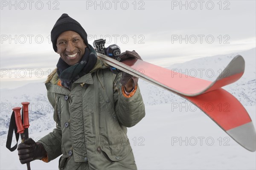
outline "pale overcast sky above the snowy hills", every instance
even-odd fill
[[[49,36],[61,14],[161,66],[256,47],[256,1],[1,1],[0,88],[44,82],[58,54]],[[42,72],[44,71],[44,72]]]

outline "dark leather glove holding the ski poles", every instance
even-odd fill
[[[29,138],[18,145],[18,155],[21,164],[34,161],[35,159],[42,159],[47,156],[43,144],[36,143],[33,139]]]

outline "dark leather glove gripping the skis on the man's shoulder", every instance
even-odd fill
[[[129,58],[136,58],[136,59],[141,59],[140,55],[136,52],[136,51],[125,51],[122,52],[119,57],[116,57],[116,59],[120,62],[122,62],[125,59],[129,59]],[[122,78],[120,79],[120,82],[122,85],[126,85],[126,83],[128,82],[129,79],[133,79],[134,82],[134,87],[137,85],[139,78],[138,77],[134,77],[131,74],[128,74],[126,72],[122,72]]]

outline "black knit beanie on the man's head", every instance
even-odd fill
[[[87,34],[84,28],[76,20],[68,16],[68,14],[62,14],[51,31],[52,46],[55,52],[57,51],[57,38],[65,31],[75,31],[82,37],[84,44],[88,46]]]

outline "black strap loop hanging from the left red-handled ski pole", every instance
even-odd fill
[[[13,147],[11,147],[11,145],[12,145],[13,130],[15,132],[15,137],[16,137],[16,142],[17,143]],[[19,133],[17,133],[17,126],[16,126],[16,122],[15,122],[15,113],[13,111],[11,119],[10,119],[10,125],[9,125],[9,130],[8,130],[8,135],[7,135],[7,141],[6,141],[7,149],[9,149],[11,152],[16,150],[17,144],[18,144],[18,140],[19,140]]]

